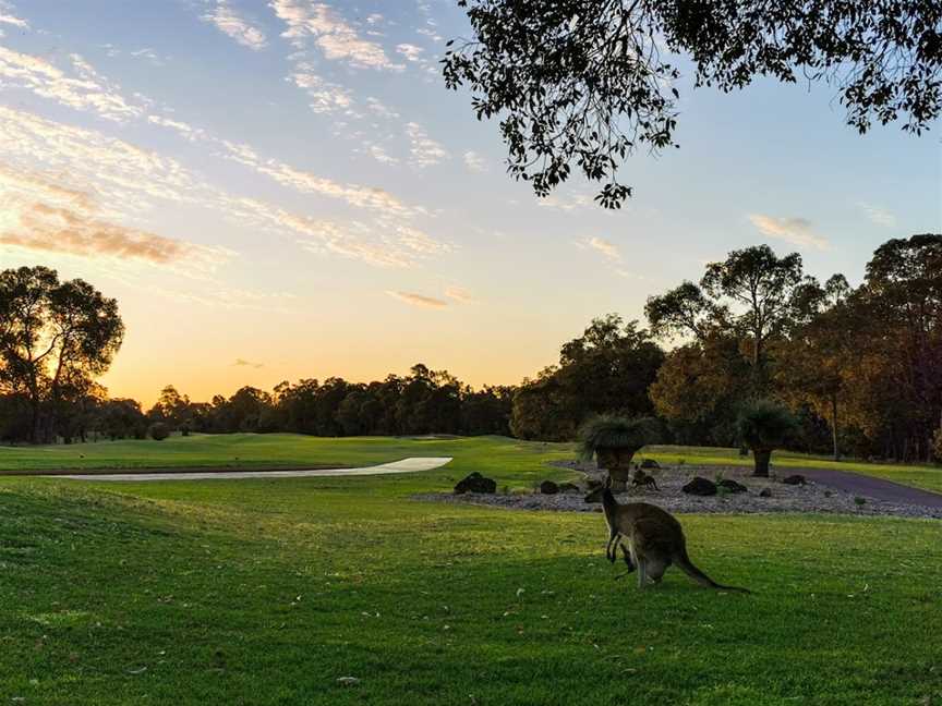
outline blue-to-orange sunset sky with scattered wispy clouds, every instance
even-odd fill
[[[681,93],[679,149],[545,199],[444,86],[454,0],[0,0],[0,267],[119,301],[102,382],[153,402],[422,362],[518,384],[734,248],[859,282],[942,231],[939,125],[858,135],[833,87]]]

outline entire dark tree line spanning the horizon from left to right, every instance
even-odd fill
[[[677,443],[734,446],[757,399],[787,405],[794,448],[835,457],[942,455],[942,235],[891,240],[862,282],[823,283],[797,253],[730,252],[649,297],[647,328],[616,314],[564,343],[519,386],[475,390],[445,370],[362,384],[244,387],[192,402],[167,386],[149,410],[95,382],[123,337],[117,304],[52,270],[0,273],[0,439],[143,438],[168,431],[316,436],[457,434],[570,440],[593,414],[655,416]]]

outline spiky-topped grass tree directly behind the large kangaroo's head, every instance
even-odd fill
[[[629,418],[602,414],[579,429],[579,457],[605,468],[614,490],[624,490],[631,478],[631,460],[643,447],[656,443],[657,421],[652,417]]]

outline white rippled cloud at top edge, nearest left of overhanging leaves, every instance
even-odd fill
[[[336,10],[323,2],[271,0],[269,7],[288,26],[281,36],[299,49],[305,48],[305,40],[310,39],[326,59],[354,69],[402,69],[401,64],[390,61],[383,47],[361,37]]]

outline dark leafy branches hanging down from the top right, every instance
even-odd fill
[[[676,147],[680,77],[732,92],[757,76],[836,85],[847,122],[920,133],[942,108],[942,5],[933,0],[459,0],[473,36],[446,52],[478,119],[499,118],[508,172],[547,195],[570,172],[620,207],[636,150]],[[448,42],[451,47],[452,42]]]

